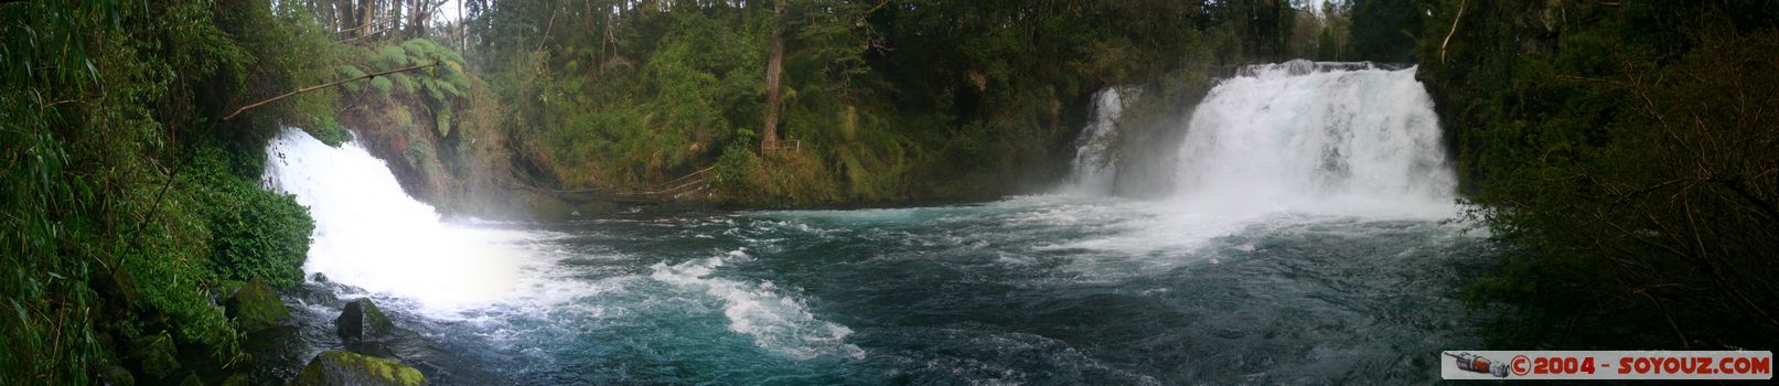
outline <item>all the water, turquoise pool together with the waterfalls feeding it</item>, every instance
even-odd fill
[[[304,269],[347,285],[310,288],[391,304],[439,384],[1429,382],[1480,345],[1452,294],[1493,260],[1441,221],[1413,69],[1222,82],[1160,201],[1083,167],[1119,100],[1096,96],[1071,194],[984,205],[454,224],[301,130],[267,183],[317,219]],[[340,302],[292,302],[286,368],[340,345]]]

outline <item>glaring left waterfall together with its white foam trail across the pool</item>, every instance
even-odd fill
[[[863,356],[856,345],[845,343],[850,329],[817,318],[802,299],[785,294],[785,288],[719,272],[724,265],[749,261],[745,249],[662,261],[649,267],[651,272],[587,279],[584,267],[564,261],[628,258],[537,249],[539,240],[551,238],[543,233],[445,224],[432,206],[409,197],[388,165],[358,142],[329,148],[295,128],[285,128],[267,148],[265,183],[295,194],[297,203],[315,217],[304,270],[375,295],[413,301],[418,306],[415,311],[429,318],[480,318],[477,315],[495,310],[511,318],[555,324],[601,318],[608,306],[667,315],[701,313],[712,311],[704,308],[706,301],[715,301],[715,311],[729,324],[728,331],[751,336],[763,349],[797,359]],[[649,279],[662,285],[649,285]],[[601,294],[619,301],[576,304]],[[680,299],[683,304],[660,299]],[[694,317],[699,315],[653,322],[680,324]],[[489,334],[535,333],[514,333],[505,327],[509,320],[480,322],[493,326]]]

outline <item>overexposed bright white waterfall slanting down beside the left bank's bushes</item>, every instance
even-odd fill
[[[514,295],[519,260],[500,233],[439,222],[358,142],[331,148],[285,128],[267,148],[265,183],[315,217],[310,274],[431,308]]]

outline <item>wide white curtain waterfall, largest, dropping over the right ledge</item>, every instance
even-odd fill
[[[1452,215],[1455,178],[1414,69],[1251,66],[1192,114],[1178,169],[1194,208]]]

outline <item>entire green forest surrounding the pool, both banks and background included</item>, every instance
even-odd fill
[[[1066,178],[1101,89],[1140,169],[1290,59],[1418,66],[1491,347],[1779,342],[1774,2],[0,2],[0,384],[244,381],[315,229],[283,126],[455,215],[973,203]]]

